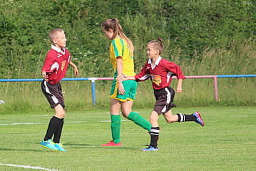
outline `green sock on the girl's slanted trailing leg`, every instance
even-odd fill
[[[138,113],[131,112],[131,113],[129,113],[127,118],[129,120],[133,121],[134,123],[136,123],[137,125],[143,127],[143,129],[146,129],[146,130],[148,130],[148,132],[150,132],[151,123],[146,121],[146,119],[141,117]]]

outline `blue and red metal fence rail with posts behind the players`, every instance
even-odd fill
[[[200,76],[186,76],[189,79],[197,78],[214,78],[214,96],[215,101],[219,101],[218,88],[217,88],[217,78],[230,78],[230,77],[256,77],[256,75],[200,75]],[[173,77],[176,79],[176,77]],[[61,81],[78,81],[78,80],[89,80],[91,81],[91,94],[92,103],[96,104],[96,94],[95,94],[95,80],[113,80],[113,77],[76,77],[76,78],[63,78]],[[42,81],[42,78],[34,79],[0,79],[0,82],[29,82],[29,81]]]

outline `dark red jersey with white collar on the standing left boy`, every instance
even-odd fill
[[[70,62],[70,54],[64,47],[62,49],[63,51],[56,46],[51,45],[51,47],[45,58],[42,71],[47,73],[50,84],[56,84],[66,75],[67,65]]]

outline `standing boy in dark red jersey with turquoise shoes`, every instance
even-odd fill
[[[49,39],[52,45],[45,58],[45,64],[42,66],[41,88],[50,107],[55,110],[55,115],[50,119],[45,138],[40,145],[52,151],[66,151],[60,143],[65,116],[60,81],[66,75],[68,64],[74,67],[75,76],[78,75],[78,68],[70,61],[69,51],[65,48],[67,39],[64,31],[60,28],[53,28],[49,33]]]

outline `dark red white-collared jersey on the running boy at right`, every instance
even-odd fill
[[[182,74],[180,66],[159,56],[154,66],[151,63],[151,58],[148,59],[140,73],[135,75],[135,80],[144,81],[150,78],[153,88],[159,90],[170,86],[173,75],[176,75],[178,79],[186,78]]]

